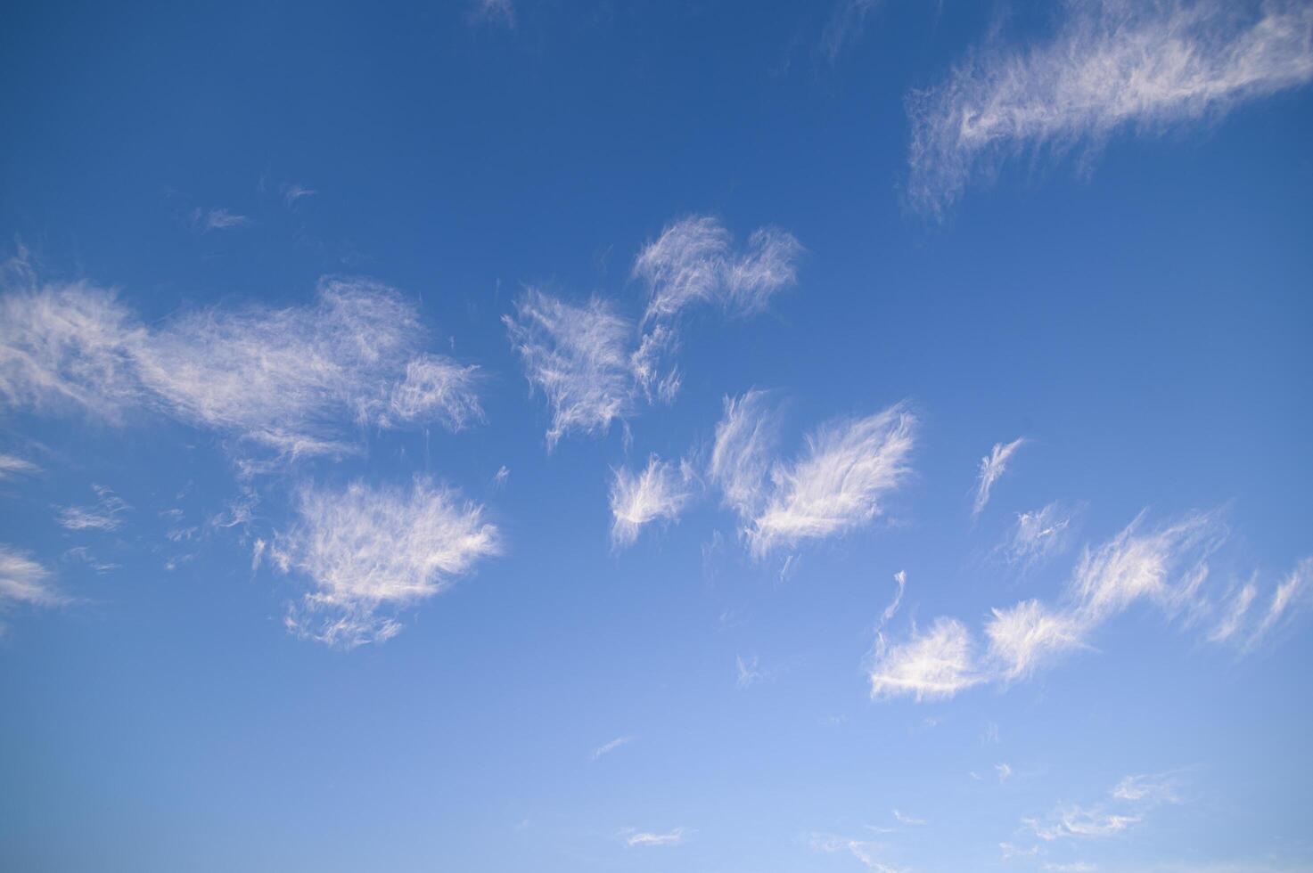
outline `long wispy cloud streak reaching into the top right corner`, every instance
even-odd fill
[[[1094,0],[1060,7],[1048,42],[972,54],[913,93],[909,194],[940,214],[1010,158],[1096,151],[1124,131],[1216,119],[1313,77],[1301,0]]]

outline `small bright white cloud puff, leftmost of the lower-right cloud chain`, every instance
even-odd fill
[[[974,664],[972,638],[953,618],[936,618],[924,634],[877,654],[871,667],[871,696],[910,694],[918,701],[952,697],[983,681]]]

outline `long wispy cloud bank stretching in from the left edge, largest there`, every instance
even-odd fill
[[[87,282],[7,289],[0,398],[110,421],[152,408],[285,456],[343,454],[361,427],[482,419],[479,374],[424,353],[415,305],[326,277],[309,306],[207,307],[147,327]]]

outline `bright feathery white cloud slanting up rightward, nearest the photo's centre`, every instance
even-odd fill
[[[752,553],[847,533],[874,519],[911,471],[915,431],[903,404],[818,428],[796,463],[772,469],[771,498],[746,530]]]

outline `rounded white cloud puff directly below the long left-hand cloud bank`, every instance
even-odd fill
[[[408,490],[306,487],[297,509],[297,525],[270,546],[284,571],[314,583],[289,610],[288,628],[347,649],[395,635],[395,610],[445,591],[502,550],[483,507],[427,479]]]

